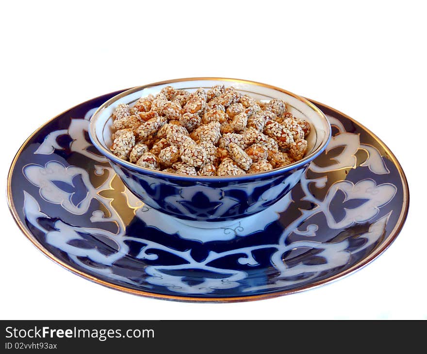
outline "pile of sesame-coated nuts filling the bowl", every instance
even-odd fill
[[[141,167],[179,175],[236,176],[286,166],[304,157],[310,123],[279,99],[256,101],[234,87],[193,93],[164,87],[156,96],[119,104],[111,151]]]

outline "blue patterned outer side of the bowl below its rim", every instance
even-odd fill
[[[148,206],[193,221],[235,220],[273,205],[296,185],[308,163],[288,172],[240,180],[200,181],[149,176],[111,162],[115,173]]]

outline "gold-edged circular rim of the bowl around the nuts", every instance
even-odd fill
[[[254,84],[254,85],[258,85],[258,86],[267,87],[269,89],[273,89],[273,90],[282,92],[286,95],[292,96],[292,97],[296,98],[297,100],[303,102],[307,106],[309,106],[313,111],[315,111],[327,123],[326,124],[326,128],[327,128],[326,139],[324,139],[324,141],[317,147],[316,150],[314,150],[311,154],[307,155],[306,157],[304,157],[303,159],[301,159],[299,161],[296,161],[296,162],[293,162],[293,163],[286,165],[284,167],[272,169],[269,171],[251,173],[251,174],[246,174],[246,175],[238,175],[238,176],[188,176],[188,175],[177,175],[177,174],[170,173],[170,172],[152,170],[152,169],[149,169],[146,167],[141,167],[141,166],[138,166],[138,165],[131,163],[129,161],[125,161],[125,160],[118,158],[111,151],[109,151],[107,148],[105,148],[101,144],[101,142],[99,141],[97,134],[96,134],[95,122],[97,121],[98,116],[101,113],[101,111],[104,110],[105,108],[109,107],[110,105],[112,105],[118,99],[125,97],[125,96],[128,96],[128,95],[130,95],[134,92],[140,91],[142,89],[153,87],[153,86],[164,85],[164,84],[173,84],[175,82],[182,82],[182,81],[196,81],[196,80],[200,80],[200,81],[202,81],[202,80],[213,80],[213,81],[217,80],[217,81],[230,81],[230,82],[236,82],[236,81],[237,82],[244,82],[244,83],[248,83],[248,84]],[[197,181],[212,181],[212,182],[214,182],[214,181],[224,181],[224,180],[227,180],[227,181],[239,180],[239,181],[241,181],[241,180],[246,180],[246,179],[256,179],[256,178],[260,178],[260,177],[274,177],[276,175],[280,175],[282,173],[289,172],[289,171],[294,170],[300,166],[305,165],[306,163],[311,162],[317,156],[319,156],[326,149],[326,146],[328,145],[328,143],[331,139],[331,136],[332,136],[332,129],[331,129],[329,120],[326,117],[325,113],[323,113],[317,106],[315,106],[312,102],[310,102],[306,98],[298,96],[298,95],[296,95],[290,91],[284,90],[282,88],[272,86],[272,85],[268,85],[268,84],[265,84],[262,82],[251,81],[251,80],[243,80],[243,79],[219,78],[219,77],[196,77],[196,78],[182,78],[182,79],[164,80],[164,81],[149,83],[146,85],[135,86],[131,89],[123,91],[120,94],[118,94],[118,95],[110,98],[109,100],[105,101],[103,104],[101,104],[99,106],[99,108],[95,111],[95,113],[93,113],[93,115],[89,121],[89,131],[88,132],[89,132],[90,140],[92,141],[93,145],[99,150],[99,152],[102,155],[104,155],[108,160],[112,160],[112,161],[122,165],[123,167],[129,168],[131,170],[135,170],[135,171],[142,173],[142,174],[148,174],[148,175],[152,175],[155,177],[168,177],[168,178],[172,178],[172,179],[196,181],[196,182]]]

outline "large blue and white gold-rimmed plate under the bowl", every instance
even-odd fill
[[[325,284],[378,257],[399,233],[408,184],[392,152],[343,113],[301,182],[262,212],[209,229],[143,205],[91,144],[88,120],[118,92],[50,120],[19,149],[9,205],[24,234],[66,269],[133,294],[244,301]]]

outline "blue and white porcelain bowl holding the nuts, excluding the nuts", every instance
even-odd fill
[[[182,176],[150,170],[116,157],[109,149],[112,143],[112,114],[121,103],[132,104],[148,94],[157,94],[165,86],[190,92],[199,87],[224,84],[258,100],[279,98],[288,103],[288,111],[308,120],[311,133],[307,137],[305,157],[282,168],[240,176]],[[181,221],[212,222],[236,220],[273,205],[298,183],[301,176],[328,144],[331,128],[325,114],[303,97],[278,87],[259,82],[224,79],[190,78],[168,80],[134,87],[102,104],[90,120],[89,135],[128,189],[149,207]]]

